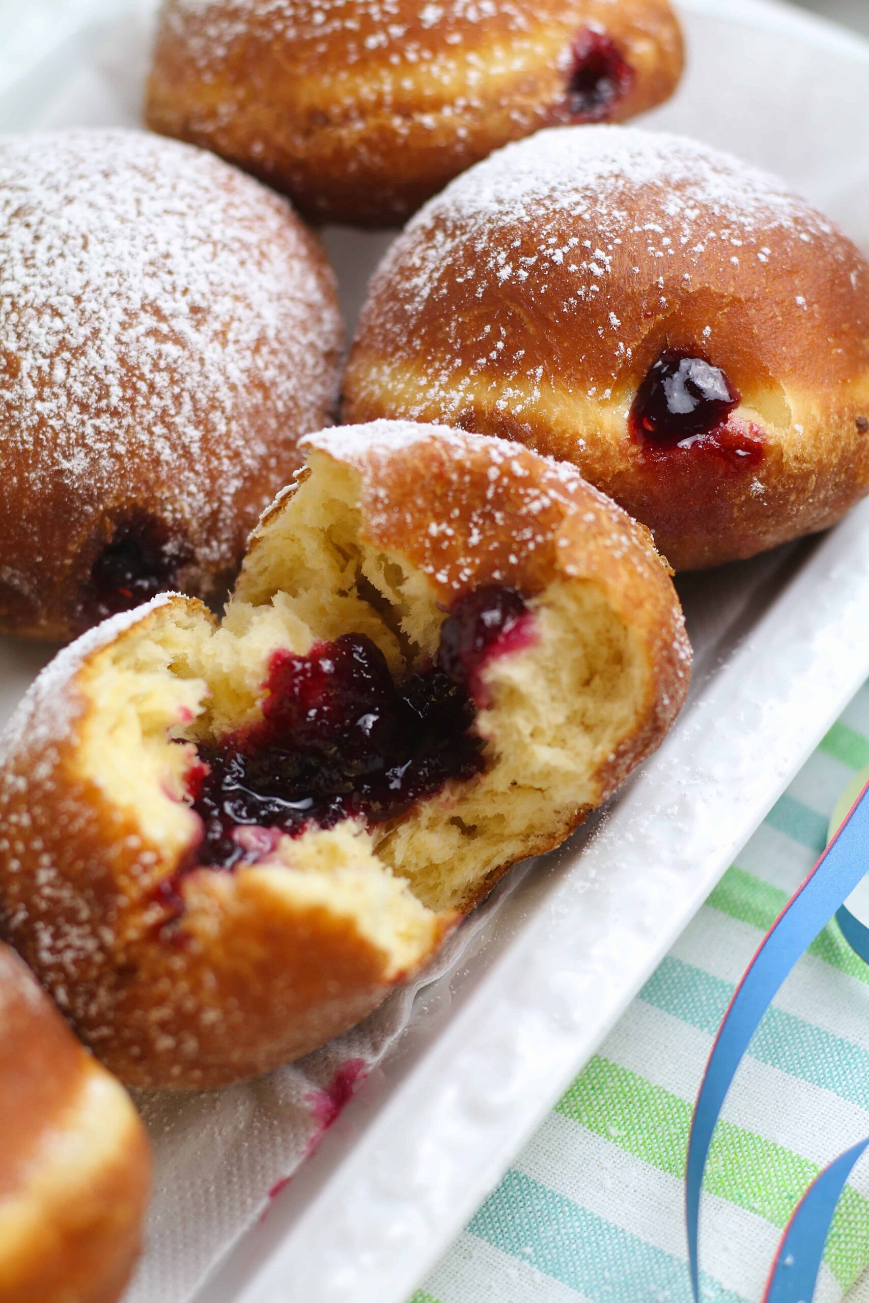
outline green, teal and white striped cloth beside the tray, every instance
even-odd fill
[[[869,765],[869,684],[724,874],[601,1052],[412,1303],[691,1303],[692,1108],[735,984]],[[869,968],[835,924],[758,1028],[706,1173],[704,1298],[756,1303],[818,1169],[869,1135]],[[869,1299],[869,1162],[844,1194],[816,1303]],[[869,1273],[868,1273],[869,1276]]]

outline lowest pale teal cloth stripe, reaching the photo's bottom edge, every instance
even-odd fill
[[[508,1171],[468,1226],[593,1303],[691,1303],[684,1257],[649,1244],[519,1171]],[[701,1276],[704,1303],[745,1303]]]

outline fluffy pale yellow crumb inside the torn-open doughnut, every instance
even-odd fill
[[[205,609],[171,605],[89,662],[89,778],[181,876],[207,872],[194,809],[202,760],[214,765],[232,739],[255,751],[264,714],[280,706],[275,666],[306,666],[323,645],[331,655],[347,635],[379,649],[399,688],[414,675],[430,683],[446,663],[457,607],[444,611],[426,575],[366,541],[357,502],[357,473],[314,452],[307,478],[262,526],[220,625]],[[276,890],[347,911],[397,972],[430,949],[438,913],[560,839],[606,795],[602,771],[645,706],[648,655],[590,580],[552,582],[521,606],[469,672],[460,754],[472,758],[460,774],[386,813],[350,803],[330,826],[245,827],[232,870],[254,865]]]

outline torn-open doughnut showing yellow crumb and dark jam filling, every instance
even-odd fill
[[[344,1031],[685,696],[667,571],[573,466],[392,422],[305,442],[223,624],[178,595],[115,616],[5,737],[10,938],[128,1083]]]

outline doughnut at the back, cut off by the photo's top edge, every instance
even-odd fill
[[[318,222],[390,227],[507,141],[651,108],[681,65],[668,0],[164,0],[147,121]]]

